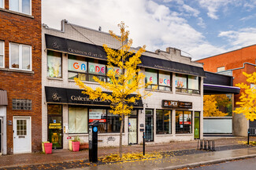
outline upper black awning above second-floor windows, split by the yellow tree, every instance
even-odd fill
[[[58,52],[66,52],[80,56],[88,56],[100,60],[106,60],[106,52],[102,46],[92,45],[85,42],[77,42],[67,38],[60,38],[54,35],[45,34],[46,49]],[[141,56],[141,67],[150,67],[163,71],[171,71],[181,74],[191,74],[205,77],[202,67],[195,67],[184,63],[177,63],[170,60],[161,60],[151,56]]]

